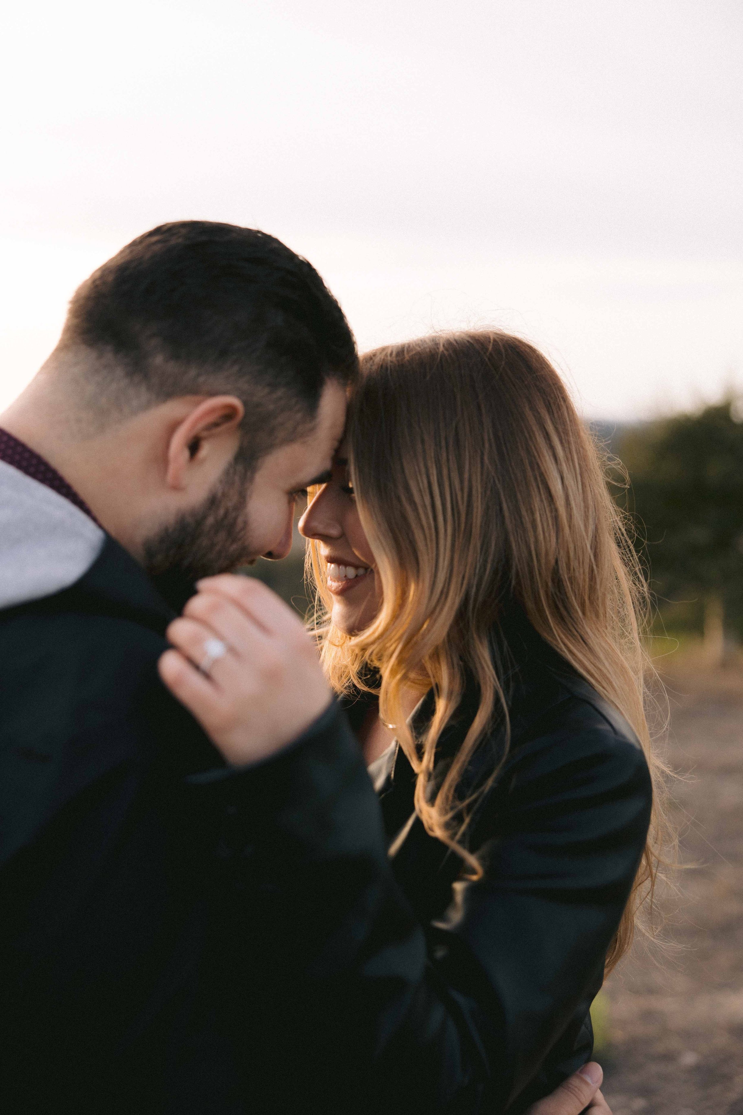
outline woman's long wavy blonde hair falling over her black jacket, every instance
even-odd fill
[[[515,597],[532,627],[632,725],[654,780],[654,815],[630,901],[607,958],[628,948],[655,884],[666,827],[664,768],[645,716],[647,590],[605,465],[549,361],[496,331],[437,334],[366,353],[349,419],[351,481],[374,555],[381,609],[361,632],[317,624],[339,692],[381,678],[380,714],[417,772],[416,809],[433,836],[462,843],[476,798],[462,775],[493,720],[508,728],[492,631]],[[311,551],[320,603],[324,568]],[[437,740],[467,677],[477,715],[443,780]],[[433,690],[422,738],[403,690]],[[478,794],[487,791],[497,772]],[[477,797],[477,794],[476,794]]]

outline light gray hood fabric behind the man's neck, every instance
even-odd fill
[[[0,608],[68,589],[105,540],[74,503],[0,460]]]

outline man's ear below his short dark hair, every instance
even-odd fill
[[[167,448],[168,487],[187,487],[201,474],[212,484],[232,460],[239,442],[245,407],[235,395],[211,395],[194,404],[173,429]]]

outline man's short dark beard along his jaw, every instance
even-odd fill
[[[145,541],[145,569],[174,605],[193,594],[199,578],[229,572],[255,558],[247,537],[250,478],[247,464],[233,460],[204,503]]]

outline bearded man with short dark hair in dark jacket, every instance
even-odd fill
[[[250,954],[261,910],[233,832],[256,783],[156,666],[199,576],[289,552],[355,371],[306,261],[182,222],[80,287],[0,416],[3,1111],[272,1109],[250,999],[271,964]],[[313,685],[281,701],[282,730],[322,748],[348,728],[317,719]],[[577,1113],[598,1083],[571,1078],[541,1115]]]

